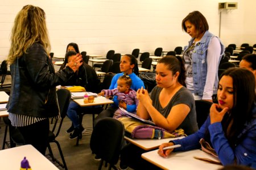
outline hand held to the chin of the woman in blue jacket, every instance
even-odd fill
[[[212,104],[210,107],[210,124],[221,122],[222,118],[228,112],[229,108],[226,107],[220,111],[220,106],[218,104]]]

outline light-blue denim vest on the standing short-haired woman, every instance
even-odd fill
[[[204,33],[204,36],[201,38],[199,42],[196,43],[195,49],[192,54],[192,71],[193,71],[193,94],[198,96],[203,96],[204,86],[207,79],[207,50],[214,35],[209,31]],[[218,39],[218,37],[217,37]],[[195,38],[192,38],[188,42],[188,46],[185,46],[184,50],[187,50],[189,46],[193,44]],[[218,39],[220,41],[220,39]],[[224,54],[224,45],[220,41],[221,45],[221,55],[220,59]],[[218,60],[218,65],[220,64],[220,59]],[[218,70],[218,65],[216,65],[216,69]],[[213,94],[217,94],[217,86],[218,86],[218,71],[216,71]]]

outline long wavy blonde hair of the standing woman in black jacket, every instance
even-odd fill
[[[16,58],[22,57],[23,53],[26,53],[35,42],[42,44],[49,54],[51,44],[45,15],[42,8],[32,5],[24,6],[16,15],[11,31],[11,48],[7,57],[9,64],[12,64]]]

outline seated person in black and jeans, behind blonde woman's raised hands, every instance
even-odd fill
[[[73,50],[69,50],[65,55],[64,64],[68,63],[68,61],[72,58],[72,56],[76,56],[76,52]],[[100,80],[93,69],[93,67],[89,66],[86,63],[83,63],[79,70],[76,71],[76,74],[71,76],[67,83],[61,84],[61,86],[82,86],[86,91],[89,92],[99,92],[100,91]],[[67,111],[67,116],[71,119],[72,125],[67,130],[67,133],[72,133],[69,139],[76,139],[80,132],[83,132],[85,129],[79,125],[79,112],[86,112],[86,109],[89,107],[81,108],[74,101],[70,101]]]

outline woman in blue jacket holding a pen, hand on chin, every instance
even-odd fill
[[[196,133],[163,143],[158,154],[200,148],[200,139],[216,151],[223,165],[241,164],[256,168],[256,107],[254,75],[241,68],[226,70],[218,83],[218,104],[213,104],[204,125]],[[164,147],[180,144],[174,150]]]

